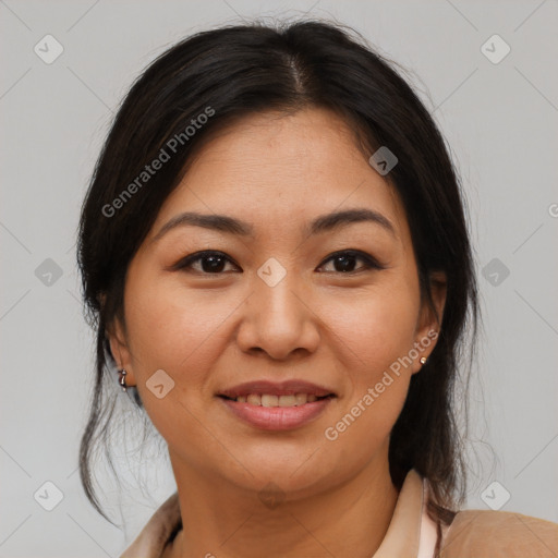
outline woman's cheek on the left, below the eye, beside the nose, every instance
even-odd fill
[[[128,341],[145,410],[161,436],[175,447],[199,444],[210,369],[222,353],[227,317],[238,302],[211,303],[210,293],[190,292],[149,274],[130,275],[125,291]],[[173,387],[163,398],[148,388],[162,369]]]

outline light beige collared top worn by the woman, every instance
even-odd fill
[[[557,558],[558,524],[506,511],[465,510],[451,524],[426,513],[428,483],[411,470],[386,536],[371,558]],[[165,558],[182,520],[178,493],[154,513],[120,558]],[[436,543],[439,554],[435,557]],[[344,558],[344,557],[343,557]]]

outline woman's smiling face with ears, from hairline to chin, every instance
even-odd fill
[[[437,331],[393,187],[323,109],[202,149],[131,262],[124,319],[112,353],[175,473],[291,496],[387,463]]]

